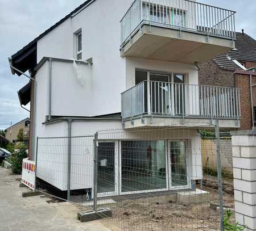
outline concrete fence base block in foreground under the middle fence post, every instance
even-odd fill
[[[109,217],[112,217],[112,211],[110,210],[110,208],[104,208],[97,211],[77,213],[77,218],[81,222],[94,221],[94,220],[105,219]]]

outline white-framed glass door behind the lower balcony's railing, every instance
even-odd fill
[[[135,84],[144,84],[144,108],[149,114],[185,114],[185,75],[136,70]]]

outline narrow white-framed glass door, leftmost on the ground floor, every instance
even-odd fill
[[[99,195],[115,195],[118,191],[118,141],[98,143],[98,177]]]

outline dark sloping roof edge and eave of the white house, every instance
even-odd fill
[[[25,47],[23,47],[18,52],[13,54],[11,56],[13,66],[15,68],[18,68],[22,72],[26,72],[28,69],[34,68],[36,66],[36,50],[37,50],[38,40],[41,39],[43,36],[47,35],[47,33],[51,32],[53,29],[55,29],[57,26],[59,26],[65,20],[70,18],[73,14],[76,14],[80,10],[84,9],[84,7],[89,6],[90,3],[93,3],[94,1],[96,1],[96,0],[85,1],[79,7],[77,7],[75,10],[73,10],[68,15],[66,15],[63,19],[60,19],[59,22],[55,23],[52,27],[48,28],[48,30],[41,33],[38,37],[36,37],[34,40],[32,40],[30,43],[28,43]],[[15,72],[15,73],[20,75],[20,73],[17,73],[17,72]]]

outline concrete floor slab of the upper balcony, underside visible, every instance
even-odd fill
[[[123,45],[121,56],[194,64],[233,48],[233,41],[224,37],[209,36],[207,41],[204,33],[143,24],[142,30],[135,32]]]

